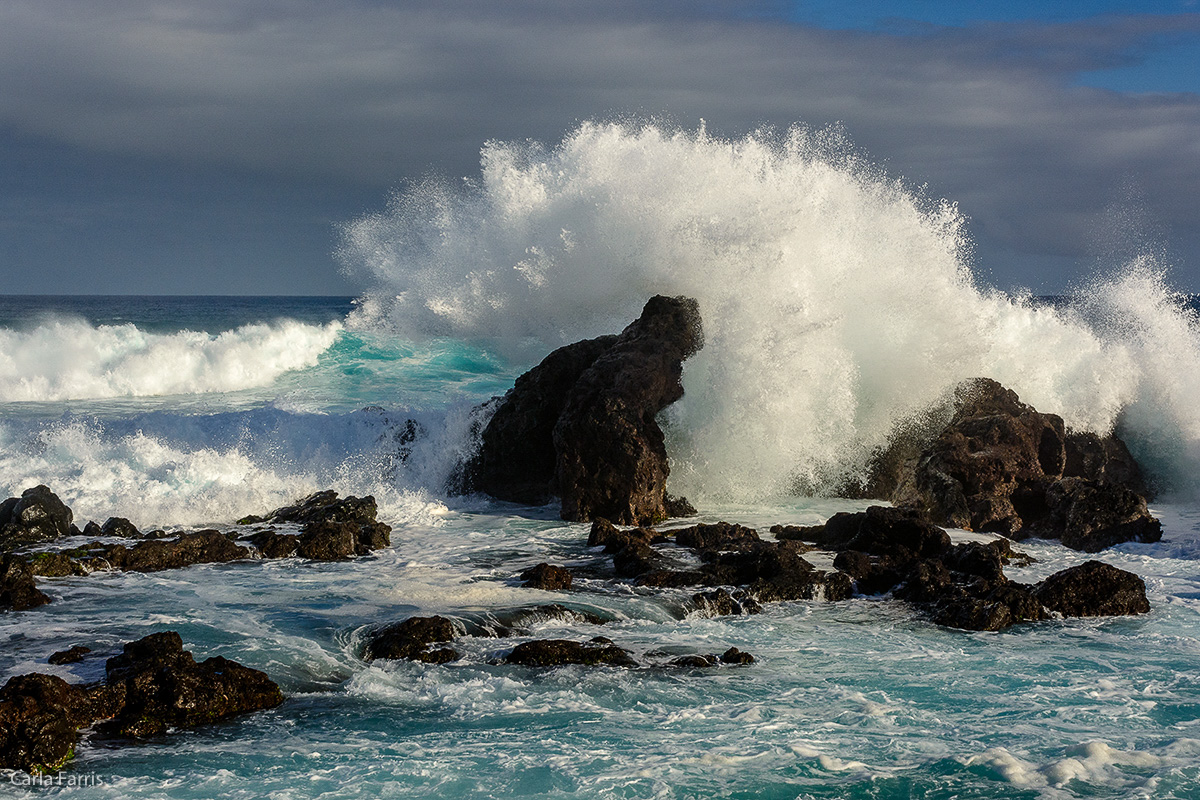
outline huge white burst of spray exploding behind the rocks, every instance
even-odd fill
[[[1195,471],[1200,338],[1157,264],[1067,309],[982,287],[958,209],[838,130],[588,122],[552,149],[492,142],[478,181],[397,194],[347,227],[341,258],[374,285],[352,327],[486,341],[527,365],[653,294],[696,297],[706,347],[666,413],[689,497],[828,489],[977,375],[1072,428],[1120,422],[1169,487]]]

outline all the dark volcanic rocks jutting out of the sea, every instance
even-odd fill
[[[1123,541],[1158,541],[1150,489],[1115,435],[1067,431],[985,378],[958,387],[924,427],[876,453],[868,477],[844,494],[889,506],[839,513],[821,525],[755,529],[715,522],[666,528],[695,510],[666,492],[670,465],[655,416],[683,396],[683,362],[703,345],[695,301],[653,297],[622,333],[556,350],[482,409],[480,449],[462,465],[464,492],[541,504],[589,522],[580,549],[611,557],[606,578],[646,589],[696,589],[690,608],[708,615],[755,614],[764,603],[838,602],[890,596],[935,624],[998,631],[1021,622],[1150,610],[1138,576],[1090,560],[1037,584],[1009,579],[1004,565],[1028,557],[1010,540],[1055,539],[1094,553]],[[415,423],[409,439],[420,435]],[[401,453],[403,457],[403,453]],[[678,523],[668,523],[678,524]],[[652,527],[653,525],[653,527]],[[990,541],[954,543],[944,528]],[[79,543],[78,539],[90,539]],[[70,547],[61,546],[66,540]],[[58,549],[55,546],[60,545]],[[124,517],[83,529],[46,486],[0,504],[0,610],[36,613],[52,601],[37,578],[97,571],[155,572],[197,564],[301,558],[337,561],[391,545],[371,497],[319,492],[290,506],[239,519],[228,530],[140,531]],[[822,570],[805,554],[832,557]],[[569,569],[538,564],[512,576],[534,590],[570,593]],[[449,616],[409,616],[368,630],[360,657],[432,664],[461,658],[463,637],[520,636],[493,663],[623,669],[709,669],[751,664],[737,648],[720,654],[655,656],[644,662],[607,637],[529,639],[522,616],[587,624],[606,620],[563,604],[497,612],[488,625]],[[505,621],[497,621],[505,620]],[[50,663],[90,658],[85,645]],[[178,633],[125,645],[106,679],[72,685],[32,673],[0,688],[0,768],[46,772],[74,752],[79,730],[133,741],[206,724],[284,702],[265,674],[224,658],[197,663]]]

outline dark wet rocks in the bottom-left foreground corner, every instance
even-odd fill
[[[97,685],[41,673],[10,678],[0,687],[0,768],[58,771],[74,754],[79,730],[91,726],[120,741],[283,703],[266,674],[221,656],[197,662],[174,631],[126,644],[104,673]]]

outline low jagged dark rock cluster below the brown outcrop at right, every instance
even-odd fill
[[[728,523],[656,533],[620,530],[599,519],[588,545],[605,547],[612,553],[614,572],[638,585],[712,587],[691,597],[691,608],[709,615],[755,614],[764,602],[887,593],[940,625],[976,631],[998,631],[1056,614],[1100,616],[1150,609],[1141,578],[1099,561],[1063,570],[1036,585],[1013,582],[1004,565],[1030,559],[1007,539],[954,545],[914,509],[871,506],[834,515],[823,525],[776,525],[773,533],[778,541],[767,542],[754,529]],[[673,548],[661,546],[672,541]],[[700,558],[698,567],[666,566],[671,551],[680,547]],[[835,572],[817,570],[803,558],[814,548],[836,553]]]

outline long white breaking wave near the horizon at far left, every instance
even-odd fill
[[[228,392],[268,386],[317,363],[341,323],[292,320],[149,333],[134,325],[49,319],[0,330],[0,401],[64,401]]]

